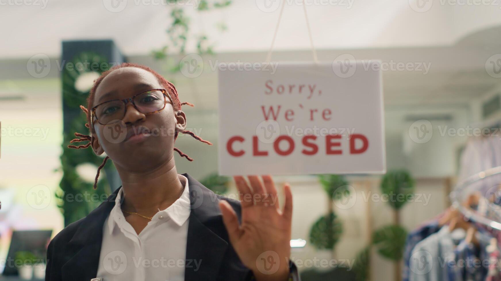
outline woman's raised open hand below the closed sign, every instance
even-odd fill
[[[282,211],[270,175],[263,175],[263,182],[256,175],[249,175],[250,187],[243,176],[233,178],[242,207],[241,224],[228,202],[221,200],[219,203],[233,248],[243,264],[253,270],[257,280],[287,280],[291,254],[290,185],[284,185]]]

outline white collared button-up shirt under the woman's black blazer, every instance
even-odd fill
[[[97,277],[104,281],[184,280],[190,198],[188,179],[177,176],[184,185],[181,196],[157,212],[139,235],[122,213],[120,188],[104,222]]]

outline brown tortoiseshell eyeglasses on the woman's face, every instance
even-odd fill
[[[94,125],[94,116],[102,124],[110,124],[122,120],[127,111],[127,103],[131,102],[137,111],[143,114],[152,114],[165,108],[167,97],[172,103],[172,98],[166,89],[151,89],[135,94],[125,99],[112,99],[92,107],[91,122]]]

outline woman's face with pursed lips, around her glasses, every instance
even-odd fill
[[[109,73],[94,95],[94,106],[112,99],[125,99],[150,90],[164,88],[152,73],[137,67],[123,67]],[[165,108],[152,114],[126,105],[121,121],[103,125],[94,118],[96,134],[92,147],[96,154],[106,152],[115,165],[131,171],[145,171],[170,160],[174,153],[174,132],[184,130],[186,116],[167,98]],[[97,137],[96,137],[97,135]]]

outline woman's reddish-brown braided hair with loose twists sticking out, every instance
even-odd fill
[[[87,147],[89,147],[91,145],[91,135],[93,133],[96,133],[96,131],[94,130],[94,127],[92,127],[92,126],[89,125],[89,124],[92,123],[91,122],[91,112],[90,112],[89,109],[93,107],[93,102],[94,102],[94,96],[96,94],[96,89],[99,86],[99,84],[101,83],[101,81],[104,79],[104,77],[106,77],[113,70],[120,69],[120,68],[123,68],[123,67],[137,67],[137,68],[144,69],[144,70],[152,73],[153,75],[155,75],[155,77],[160,82],[160,85],[162,87],[164,87],[165,89],[167,89],[167,91],[169,92],[169,94],[170,94],[170,96],[172,98],[172,107],[174,108],[174,110],[180,110],[181,106],[185,105],[185,104],[189,105],[189,106],[192,106],[192,107],[194,106],[192,103],[189,103],[189,102],[180,102],[179,101],[179,96],[177,94],[176,87],[174,87],[174,84],[172,84],[171,82],[167,81],[162,75],[158,74],[155,70],[153,70],[153,69],[151,69],[151,68],[149,68],[147,66],[140,65],[140,64],[137,64],[137,63],[131,63],[131,62],[124,62],[124,63],[118,64],[118,65],[115,65],[112,68],[110,68],[109,70],[104,71],[101,74],[101,76],[99,76],[97,79],[94,80],[94,84],[93,84],[93,86],[92,86],[92,88],[91,88],[91,90],[89,92],[89,97],[87,98],[87,108],[85,108],[85,106],[83,106],[83,105],[80,105],[80,108],[87,115],[87,123],[85,124],[85,126],[87,128],[89,128],[89,134],[82,134],[82,133],[79,133],[79,132],[75,132],[76,138],[70,140],[70,143],[82,142],[82,141],[89,141],[89,142],[86,143],[86,144],[80,144],[80,145],[70,144],[70,145],[68,145],[69,148],[80,149],[80,148],[87,148]],[[199,137],[198,135],[196,135],[195,133],[193,133],[190,130],[182,130],[181,132],[189,134],[192,137],[194,137],[195,139],[200,140],[201,142],[204,142],[204,143],[207,143],[209,145],[212,145],[212,143],[210,141],[202,139],[201,137]],[[177,139],[178,133],[179,133],[178,131],[175,131],[175,133],[174,133],[174,142]],[[181,155],[182,157],[185,157],[189,161],[193,161],[192,158],[190,158],[188,155],[186,155],[181,150],[179,150],[179,148],[174,147],[174,150],[177,151],[179,153],[179,155]],[[106,156],[104,158],[103,162],[101,163],[101,165],[97,169],[96,178],[94,180],[94,189],[97,188],[97,180],[99,178],[99,173],[101,172],[101,169],[104,167],[104,165],[106,164],[106,161],[109,158],[110,158],[109,156]]]

